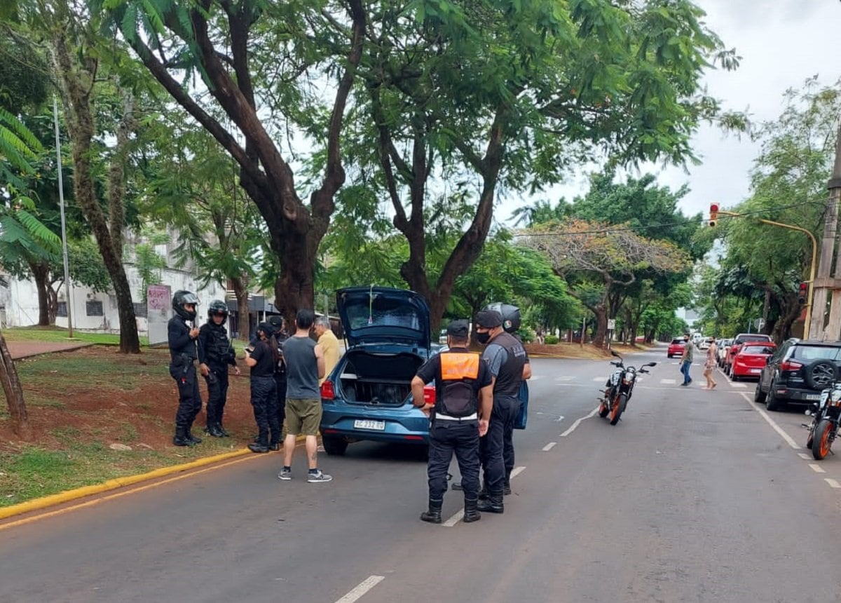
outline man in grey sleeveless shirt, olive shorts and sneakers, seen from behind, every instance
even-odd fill
[[[311,309],[299,309],[295,316],[295,334],[283,343],[286,361],[286,440],[283,442],[283,469],[280,479],[292,479],[295,438],[306,436],[307,481],[329,482],[330,475],[318,468],[318,428],[321,423],[321,393],[318,385],[324,377],[324,352],[309,336],[315,320]]]

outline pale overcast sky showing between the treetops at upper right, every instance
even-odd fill
[[[708,92],[726,108],[747,110],[753,121],[776,119],[786,88],[799,87],[817,75],[828,85],[841,77],[841,2],[838,0],[696,0],[706,13],[706,24],[727,48],[742,57],[736,71],[710,71]],[[703,126],[694,139],[701,165],[683,168],[646,166],[658,174],[659,183],[673,189],[682,184],[690,193],[680,204],[685,214],[703,212],[711,201],[722,207],[737,204],[748,195],[748,172],[759,153],[746,136],[724,135]],[[634,174],[638,175],[638,174]],[[827,178],[829,174],[827,174]],[[569,179],[537,198],[553,202],[572,199],[587,190],[584,174]],[[496,211],[498,220],[509,221],[522,204],[508,199]]]

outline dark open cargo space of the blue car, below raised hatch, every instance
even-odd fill
[[[341,396],[348,404],[402,406],[411,395],[411,380],[423,362],[411,352],[351,350],[345,354],[339,374]]]

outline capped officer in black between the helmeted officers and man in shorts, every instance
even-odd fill
[[[274,370],[280,361],[274,327],[262,322],[257,325],[260,341],[246,347],[246,364],[251,367],[251,405],[257,421],[257,441],[248,445],[251,452],[268,452],[280,448],[278,399],[274,384]],[[271,438],[271,439],[270,439]]]

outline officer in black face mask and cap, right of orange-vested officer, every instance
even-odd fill
[[[513,434],[514,421],[520,410],[517,394],[526,365],[526,349],[502,327],[502,315],[495,309],[483,309],[476,315],[476,339],[486,345],[482,358],[488,363],[494,382],[494,409],[486,436],[479,442],[479,456],[484,468],[484,485],[488,498],[479,501],[479,510],[503,513],[505,491],[505,434]],[[508,436],[508,442],[511,436]],[[510,462],[514,447],[510,443]],[[509,475],[510,479],[510,475]]]

